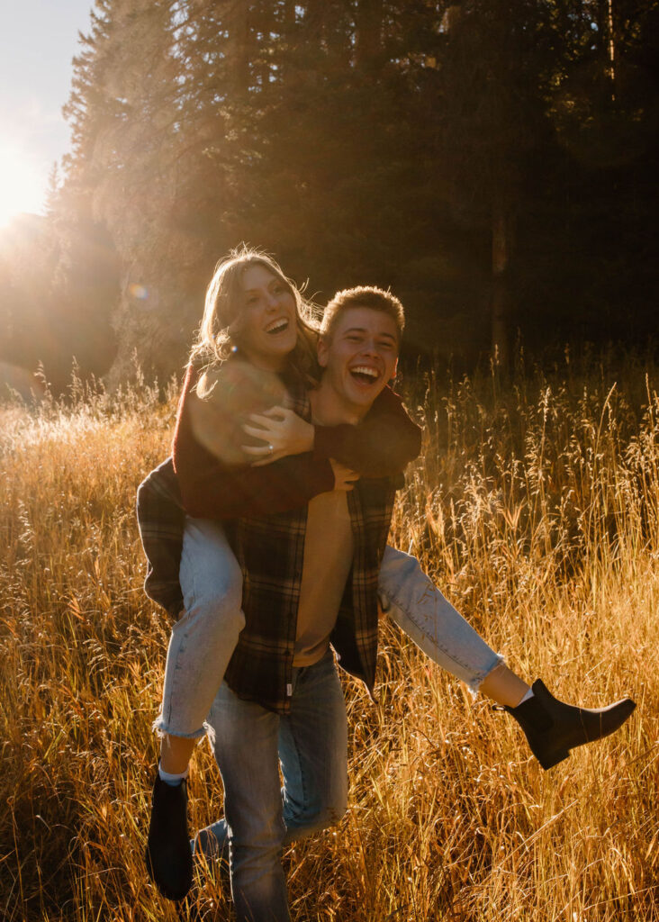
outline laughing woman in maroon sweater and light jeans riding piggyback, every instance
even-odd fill
[[[272,260],[251,251],[232,254],[209,286],[185,379],[173,450],[190,516],[180,568],[184,605],[172,631],[156,725],[163,740],[147,845],[149,872],[174,899],[191,880],[188,762],[243,625],[241,573],[218,520],[286,511],[319,493],[349,491],[359,475],[391,476],[418,453],[418,429],[390,391],[361,428],[314,429],[278,406],[287,391],[313,385],[311,319]],[[265,412],[241,427],[241,414],[259,405]],[[243,429],[255,443],[240,447]],[[239,465],[242,453],[256,457],[257,466]],[[633,708],[620,703],[603,716],[556,702],[542,683],[532,691],[430,584],[418,561],[399,551],[385,554],[380,591],[384,607],[431,658],[518,719],[545,768],[567,758],[571,746],[611,732]],[[552,707],[556,720],[549,723],[557,723],[558,736],[542,726]],[[221,824],[210,832],[222,837]],[[212,846],[213,835],[202,838],[203,847]]]

